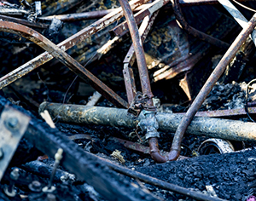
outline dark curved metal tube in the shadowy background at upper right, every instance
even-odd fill
[[[204,32],[200,32],[193,28],[192,26],[189,26],[188,22],[183,17],[183,12],[180,8],[179,0],[173,0],[172,3],[173,12],[176,16],[177,21],[179,22],[179,25],[186,31],[189,32],[189,34],[192,34],[194,37],[198,37],[199,39],[206,41],[207,43],[211,43],[214,46],[217,46],[221,49],[229,49],[230,44],[225,43],[221,40],[218,40],[215,37],[211,37],[207,35]]]

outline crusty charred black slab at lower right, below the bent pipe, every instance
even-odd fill
[[[154,164],[136,170],[195,191],[204,192],[206,186],[211,185],[218,198],[246,200],[248,196],[255,194],[255,155],[256,150],[212,154],[166,164]],[[172,193],[164,196],[166,200],[184,198]]]

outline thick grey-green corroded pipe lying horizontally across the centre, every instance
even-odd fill
[[[64,123],[96,124],[134,129],[142,119],[143,113],[134,120],[127,116],[127,110],[114,107],[79,106],[61,103],[43,102],[39,112],[47,110],[52,118]],[[174,133],[182,121],[182,114],[157,113],[159,130]],[[189,124],[186,134],[206,135],[231,141],[256,141],[256,123],[222,118],[195,117]]]

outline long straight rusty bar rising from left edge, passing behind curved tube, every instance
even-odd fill
[[[132,0],[130,3],[132,9],[135,9],[143,3],[147,2],[148,0]],[[73,46],[83,42],[87,37],[92,36],[94,33],[101,31],[103,28],[109,26],[114,21],[119,20],[122,16],[122,9],[119,8],[116,11],[107,14],[101,20],[97,20],[90,26],[85,27],[83,30],[74,34],[73,36],[68,37],[57,46],[62,50],[67,51],[67,49],[71,49]],[[22,78],[27,73],[32,72],[34,69],[38,68],[38,66],[42,66],[44,63],[51,59],[53,59],[53,56],[48,52],[44,52],[43,54],[38,55],[36,58],[26,62],[26,64],[16,68],[14,71],[9,72],[7,75],[0,78],[0,89],[3,89],[3,87],[9,85],[9,83],[15,82],[16,79]]]

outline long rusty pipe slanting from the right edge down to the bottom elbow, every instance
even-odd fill
[[[195,116],[195,113],[199,110],[201,104],[207,98],[207,95],[212,90],[214,84],[218,81],[218,78],[220,78],[220,76],[224,72],[226,66],[229,65],[230,61],[236,55],[236,52],[241,48],[242,43],[244,43],[249,34],[253,32],[255,26],[256,14],[253,15],[253,18],[248,22],[247,27],[240,32],[238,37],[236,37],[236,40],[231,44],[230,49],[228,49],[223,58],[219,61],[218,66],[216,66],[210,77],[207,79],[207,82],[204,84],[201,91],[196,96],[192,105],[189,107],[188,112],[186,112],[186,114],[184,115],[182,122],[178,125],[172,141],[172,148],[168,158],[169,160],[176,160],[179,156],[183,135],[188,128],[189,123],[191,123],[192,119]]]

